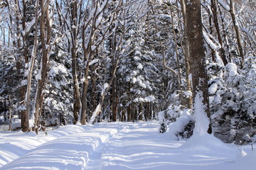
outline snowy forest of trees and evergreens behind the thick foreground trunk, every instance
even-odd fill
[[[187,4],[1,0],[1,125],[159,118],[166,132],[178,118],[176,136],[191,136]],[[223,142],[256,141],[255,9],[252,0],[201,1],[210,121]]]

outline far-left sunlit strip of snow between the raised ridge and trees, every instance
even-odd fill
[[[62,128],[46,132],[0,132],[0,169],[1,166],[13,162],[19,157],[30,152],[36,147],[40,147],[46,142],[56,140],[59,137],[73,135],[75,133],[85,132],[92,129],[91,127],[82,127],[78,125],[67,125]]]

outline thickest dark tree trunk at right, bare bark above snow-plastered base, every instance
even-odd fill
[[[193,84],[193,103],[196,94],[202,92],[205,113],[210,120],[208,78],[206,72],[206,59],[204,54],[203,24],[201,21],[201,1],[188,1],[186,4],[186,32],[188,33],[188,45],[190,53],[190,65]],[[189,21],[189,22],[188,22]],[[209,124],[208,133],[211,133]]]

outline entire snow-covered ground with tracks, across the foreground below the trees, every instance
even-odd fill
[[[0,132],[0,169],[253,170],[251,146],[211,135],[188,141],[159,134],[156,121],[68,125],[41,132]],[[244,151],[240,152],[243,149]],[[245,155],[247,152],[247,155]]]

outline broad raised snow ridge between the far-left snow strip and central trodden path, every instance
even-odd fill
[[[89,128],[82,132],[64,135],[39,145],[18,159],[1,167],[4,169],[85,169],[90,155],[109,137],[114,128]]]

